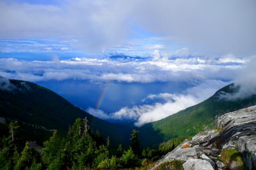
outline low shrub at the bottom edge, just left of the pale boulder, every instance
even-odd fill
[[[172,160],[170,162],[163,162],[155,170],[184,170],[181,160]]]

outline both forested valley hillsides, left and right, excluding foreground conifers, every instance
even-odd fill
[[[16,88],[0,90],[0,137],[8,134],[6,124],[17,120],[21,126],[21,138],[24,141],[37,141],[39,144],[48,140],[52,129],[57,129],[60,135],[64,135],[76,118],[87,117],[91,129],[94,132],[98,129],[104,139],[109,136],[114,148],[120,143],[123,147],[128,147],[132,129],[140,131],[142,148],[158,147],[164,141],[177,137],[183,139],[203,129],[212,128],[217,115],[256,105],[256,95],[235,101],[220,100],[220,92],[232,93],[237,90],[228,85],[200,104],[142,127],[134,127],[133,123],[110,123],[98,119],[37,84],[21,80],[10,82]],[[5,125],[1,123],[2,118],[6,120]]]

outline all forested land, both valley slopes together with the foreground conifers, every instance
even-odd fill
[[[135,127],[98,119],[37,84],[10,83],[12,90],[0,93],[1,169],[146,169],[184,139],[212,129],[218,115],[256,105],[256,95],[220,98],[238,90],[231,84],[200,104]]]

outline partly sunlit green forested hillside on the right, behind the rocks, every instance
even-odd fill
[[[212,97],[192,107],[140,128],[142,144],[157,147],[159,143],[176,137],[196,135],[203,129],[213,128],[217,115],[223,115],[256,105],[256,95],[246,99],[220,99],[220,92],[234,93],[232,84],[218,90]]]

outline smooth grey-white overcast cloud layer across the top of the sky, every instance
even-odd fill
[[[2,1],[0,38],[64,38],[91,51],[132,49],[138,39],[158,39],[164,44],[145,49],[166,49],[175,42],[196,52],[252,55],[256,52],[255,7],[254,0]]]

